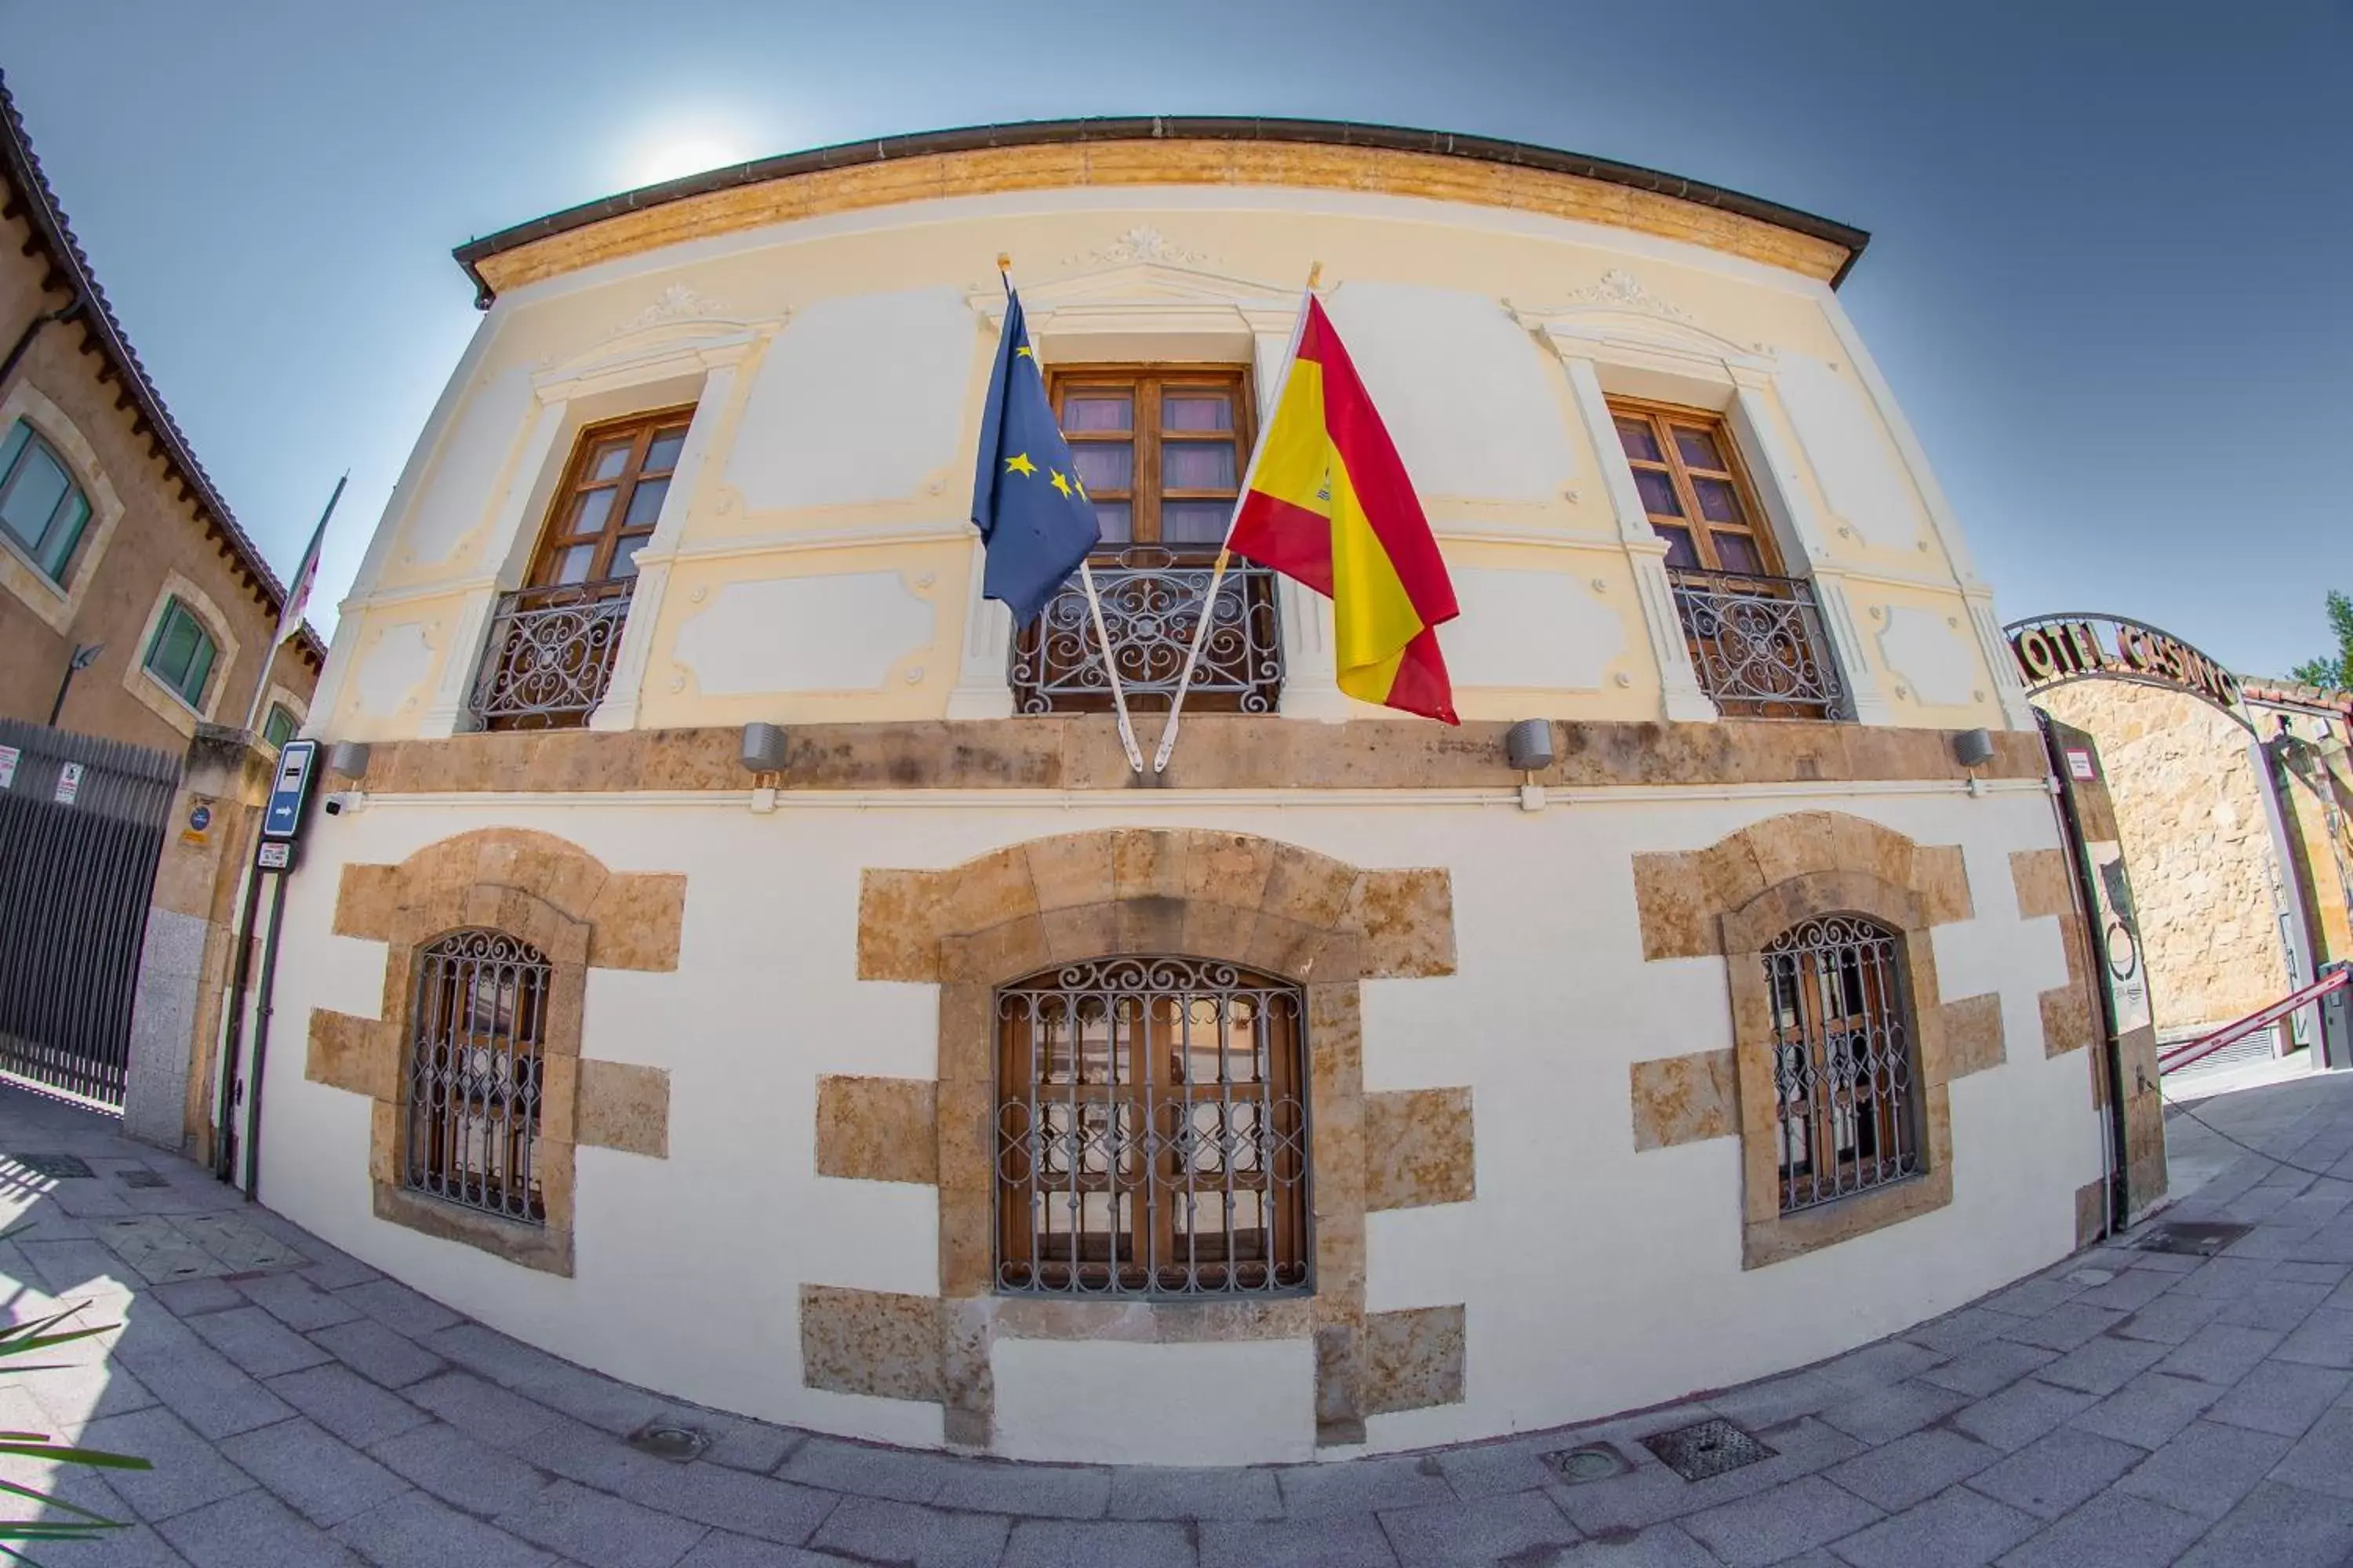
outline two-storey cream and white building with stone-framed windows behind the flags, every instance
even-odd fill
[[[2066,1255],[2106,1194],[2068,867],[1833,292],[1861,247],[1261,120],[468,244],[482,329],[320,684],[367,757],[292,879],[261,1197],[642,1385],[1160,1462],[1657,1403]],[[1000,252],[1144,708],[1322,263],[1461,729],[1344,698],[1327,604],[1242,571],[1129,771],[1082,597],[979,595]]]

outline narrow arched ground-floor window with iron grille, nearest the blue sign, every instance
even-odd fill
[[[541,1046],[548,959],[504,931],[452,931],[416,954],[402,1182],[544,1225]]]

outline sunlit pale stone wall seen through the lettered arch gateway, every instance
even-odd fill
[[[2193,1034],[2275,1001],[2287,961],[2247,731],[2198,698],[2125,682],[2075,682],[2035,703],[2099,743],[2158,1034]]]

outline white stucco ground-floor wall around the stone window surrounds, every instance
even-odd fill
[[[2057,922],[2017,919],[2009,879],[2009,851],[2057,842],[2040,792],[1652,790],[1555,795],[1541,813],[1504,792],[1447,802],[786,795],[755,816],[739,797],[435,797],[320,818],[287,907],[278,1009],[289,1025],[313,1006],[379,1009],[384,947],[327,936],[346,860],[395,863],[454,832],[520,825],[614,870],[682,872],[680,969],[591,971],[581,1046],[671,1072],[671,1159],[581,1150],[576,1276],[534,1274],[376,1222],[367,1100],[304,1081],[294,1044],[268,1067],[261,1197],[416,1288],[619,1378],[769,1420],[936,1443],[936,1406],[800,1387],[802,1281],[936,1293],[932,1187],[814,1175],[819,1074],[936,1072],[934,987],[854,976],[859,872],[1139,823],[1452,870],[1459,973],[1365,985],[1365,1081],[1473,1088],[1478,1199],[1374,1213],[1367,1309],[1466,1302],[1468,1396],[1372,1418],[1372,1448],[1546,1427],[1814,1361],[2073,1246],[2075,1187],[2101,1168],[2099,1124],[2085,1058],[2042,1056],[2035,994],[2066,978]],[[1951,1088],[1948,1208],[1744,1272],[1739,1143],[1633,1152],[1628,1063],[1725,1046],[1732,1025],[1720,959],[1642,961],[1631,853],[1706,846],[1805,809],[1962,846],[1977,917],[1934,933],[1941,992],[1998,990],[2009,1060]],[[1101,1458],[1073,1450],[1087,1434],[1049,1396],[1071,1356],[1099,1354],[1141,1380],[1132,1387],[1186,1389],[1195,1415],[1266,1415],[1221,1432],[1207,1418],[1172,1420],[1153,1453],[1120,1458],[1299,1458],[1308,1418],[1268,1403],[1304,1378],[1285,1359],[1297,1352],[1000,1342],[998,1441],[1031,1458]]]

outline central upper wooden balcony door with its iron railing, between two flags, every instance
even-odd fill
[[[1047,393],[1071,442],[1104,543],[1094,581],[1120,684],[1134,708],[1167,708],[1200,621],[1249,463],[1249,371],[1226,364],[1061,364]],[[1094,623],[1078,583],[1019,630],[1012,661],[1021,712],[1111,705]],[[1273,578],[1235,562],[1219,588],[1186,708],[1273,712],[1282,639]]]

